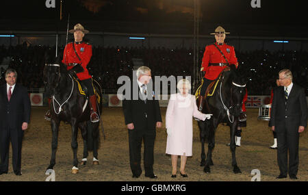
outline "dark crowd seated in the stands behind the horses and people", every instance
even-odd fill
[[[15,68],[18,82],[27,88],[44,88],[42,70],[44,54],[55,47],[19,44],[13,47],[0,46],[0,63]],[[204,49],[199,51],[199,65]],[[63,47],[58,52],[63,53]],[[248,94],[268,95],[279,70],[292,70],[294,82],[308,88],[307,51],[236,51],[240,73],[247,78]],[[121,75],[131,76],[133,58],[142,59],[144,66],[149,66],[152,75],[188,76],[193,75],[192,49],[167,49],[153,47],[92,47],[92,60],[88,65],[90,73],[103,83],[105,90],[116,90]],[[1,82],[4,68],[1,66]],[[306,94],[308,91],[306,90]]]

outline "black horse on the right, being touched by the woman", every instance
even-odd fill
[[[227,68],[229,69],[229,68]],[[242,99],[246,92],[246,83],[238,75],[234,65],[229,70],[224,70],[218,79],[214,81],[214,92],[211,92],[205,99],[205,105],[202,112],[213,114],[210,120],[199,120],[201,138],[201,166],[205,166],[204,172],[209,173],[210,167],[214,165],[211,159],[211,153],[215,146],[215,131],[222,122],[227,122],[230,127],[230,148],[232,152],[233,172],[239,173],[240,168],[235,159],[235,130],[238,127],[238,117],[242,109]],[[205,141],[208,142],[207,158],[205,160]]]

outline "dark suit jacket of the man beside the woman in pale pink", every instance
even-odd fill
[[[153,99],[148,99],[146,103],[142,99],[133,100],[133,85],[134,88],[140,89],[138,83],[134,81],[131,83],[131,99],[123,100],[123,113],[125,117],[125,124],[133,122],[135,129],[142,130],[155,130],[156,122],[162,122],[162,116],[160,114],[159,102],[153,97],[153,92],[149,88],[147,89],[148,96],[152,96]],[[135,94],[136,96],[136,94]]]

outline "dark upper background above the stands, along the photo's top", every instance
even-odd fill
[[[307,37],[308,9],[305,1],[261,0],[261,8],[251,8],[251,0],[200,0],[200,34],[224,25],[240,36]],[[140,10],[143,10],[141,12]],[[85,22],[92,31],[127,33],[193,33],[193,0],[63,0],[60,21],[60,0],[56,8],[46,8],[45,0],[5,1],[1,5],[2,30],[65,30],[70,21]],[[160,25],[157,25],[159,23]],[[188,30],[172,31],[161,27],[170,24]],[[140,27],[142,27],[140,29]],[[257,32],[256,32],[257,31]]]

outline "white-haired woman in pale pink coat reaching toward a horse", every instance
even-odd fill
[[[171,155],[172,175],[177,177],[177,157],[181,156],[180,174],[188,177],[185,172],[187,157],[192,156],[192,117],[205,120],[211,114],[203,114],[196,107],[194,95],[189,94],[190,81],[181,79],[177,83],[177,94],[171,94],[166,111],[166,129],[168,133],[166,153]]]

